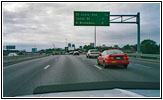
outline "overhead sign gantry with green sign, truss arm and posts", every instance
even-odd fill
[[[131,21],[131,19],[135,19]],[[117,21],[118,20],[118,21]],[[110,23],[137,24],[137,52],[140,52],[140,13],[136,15],[110,15],[110,12],[74,11],[74,26],[110,26]]]

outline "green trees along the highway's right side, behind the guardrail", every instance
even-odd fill
[[[160,53],[160,44],[157,45],[155,41],[147,39],[147,40],[143,40],[140,44],[140,51],[143,54],[159,54]],[[85,51],[87,52],[89,49],[98,49],[99,51],[104,51],[104,50],[108,50],[108,49],[121,49],[122,51],[126,52],[126,53],[134,53],[137,50],[137,44],[134,45],[124,45],[122,48],[120,48],[118,45],[114,45],[114,46],[97,46],[97,47],[93,47],[91,45],[84,45],[83,49],[85,49]]]

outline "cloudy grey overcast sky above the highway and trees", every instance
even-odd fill
[[[94,42],[94,26],[74,26],[74,11],[110,11],[110,14],[140,12],[141,41],[160,44],[159,3],[3,3],[3,45],[17,49],[64,48],[68,43],[88,45]],[[110,24],[96,27],[97,45],[137,43],[136,24]]]

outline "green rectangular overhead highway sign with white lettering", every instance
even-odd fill
[[[74,11],[74,26],[109,26],[110,12]]]

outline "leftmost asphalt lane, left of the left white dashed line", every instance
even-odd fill
[[[49,56],[49,57],[45,57],[45,58],[29,60],[29,61],[25,61],[22,63],[4,67],[3,68],[4,79],[6,81],[9,81],[11,79],[19,78],[23,74],[31,72],[34,68],[37,69],[37,67],[42,67],[40,65],[45,66],[46,62],[48,62],[50,59],[53,59],[53,57]],[[35,67],[35,66],[37,66],[37,67]],[[38,68],[38,69],[40,69],[40,68]]]

